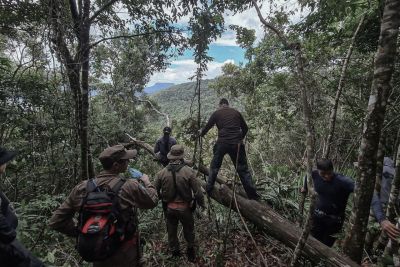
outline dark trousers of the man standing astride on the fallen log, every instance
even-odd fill
[[[247,166],[247,157],[244,144],[240,144],[238,147],[237,144],[231,145],[216,143],[213,148],[213,153],[214,156],[211,161],[210,175],[207,182],[207,191],[209,192],[213,188],[219,169],[221,168],[222,160],[224,159],[224,156],[228,154],[235,168],[237,163],[236,171],[239,174],[240,181],[242,182],[248,198],[259,199],[259,195],[256,192],[255,186],[253,185],[251,174]]]

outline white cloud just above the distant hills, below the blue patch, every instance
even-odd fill
[[[224,62],[210,62],[208,64],[208,70],[205,73],[205,79],[213,79],[220,75],[221,67],[226,63],[234,63],[233,59],[225,60]],[[171,66],[168,67],[163,72],[155,73],[148,83],[148,86],[151,86],[155,83],[185,83],[190,82],[190,77],[195,74],[197,65],[191,59],[184,60],[176,60],[171,63]]]

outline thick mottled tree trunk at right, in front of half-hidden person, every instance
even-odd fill
[[[375,56],[374,78],[364,131],[358,156],[359,175],[354,195],[350,227],[344,251],[360,262],[368,224],[368,215],[376,176],[378,143],[391,91],[391,77],[396,58],[396,44],[400,26],[400,0],[387,0],[381,23],[378,51]]]

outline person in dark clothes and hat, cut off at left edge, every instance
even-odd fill
[[[0,174],[16,153],[0,148]],[[38,259],[29,253],[16,239],[18,219],[10,201],[0,191],[0,265],[4,267],[41,267]]]

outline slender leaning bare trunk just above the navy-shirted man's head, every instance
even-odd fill
[[[353,34],[353,37],[351,38],[350,46],[349,46],[349,49],[347,50],[346,58],[343,62],[342,71],[340,73],[340,78],[339,78],[339,84],[338,84],[338,88],[337,88],[336,95],[335,95],[335,101],[333,103],[331,113],[329,116],[329,128],[328,128],[329,130],[328,130],[328,137],[326,138],[325,147],[323,150],[324,151],[323,156],[322,156],[323,158],[328,158],[330,151],[331,151],[333,135],[335,134],[337,109],[339,107],[339,100],[340,100],[340,96],[342,95],[342,91],[343,91],[343,87],[344,87],[344,81],[346,78],[347,67],[350,62],[351,54],[353,53],[353,47],[354,47],[354,43],[356,41],[357,34],[360,31],[361,25],[364,22],[364,18],[365,18],[365,14],[362,15],[362,17],[358,23],[358,26]]]

